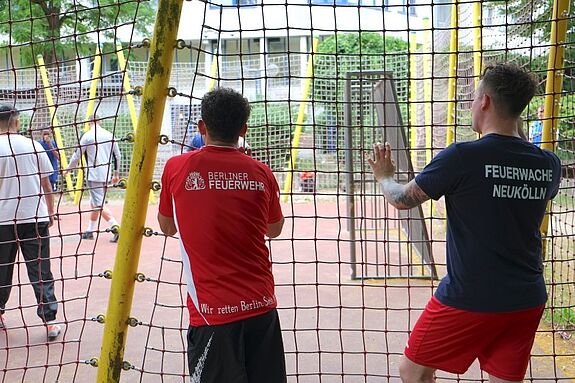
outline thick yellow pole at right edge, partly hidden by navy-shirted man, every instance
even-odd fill
[[[561,92],[563,90],[563,68],[565,65],[565,39],[567,37],[567,17],[569,15],[569,0],[553,1],[553,17],[551,19],[551,46],[547,59],[547,81],[545,82],[545,106],[543,134],[541,147],[554,150],[555,132],[561,107]],[[549,205],[547,206],[549,210]],[[545,214],[541,223],[541,236],[547,237],[549,231],[549,215]],[[547,253],[547,240],[543,241],[543,257]]]

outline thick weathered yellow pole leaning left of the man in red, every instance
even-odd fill
[[[128,319],[183,1],[160,0],[158,4],[138,118],[138,134],[135,137],[124,201],[120,240],[112,273],[102,349],[97,361],[98,383],[118,383],[124,366]]]

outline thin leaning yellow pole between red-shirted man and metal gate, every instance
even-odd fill
[[[292,188],[292,180],[293,180],[293,170],[295,168],[296,159],[297,159],[297,151],[299,148],[299,141],[301,138],[301,133],[303,131],[303,122],[305,118],[305,110],[307,108],[307,99],[309,97],[309,90],[311,88],[311,82],[313,79],[313,55],[317,50],[317,46],[319,44],[319,39],[313,39],[311,54],[309,55],[307,61],[307,70],[305,74],[305,82],[302,90],[301,95],[301,102],[299,104],[299,110],[297,114],[297,121],[295,124],[295,132],[292,139],[291,144],[291,153],[287,163],[287,174],[286,179],[284,182],[284,189],[283,189],[283,196],[282,201],[286,202],[288,200],[288,193],[291,191]]]

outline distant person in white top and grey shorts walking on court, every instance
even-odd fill
[[[105,206],[105,195],[108,183],[118,183],[120,180],[118,169],[122,156],[114,135],[102,128],[96,115],[90,116],[90,130],[80,138],[80,147],[74,152],[70,164],[64,170],[65,177],[68,172],[78,166],[82,155],[86,159],[86,184],[90,192],[92,212],[86,231],[82,233],[82,239],[94,239],[94,231],[98,228],[100,214],[110,224],[118,225],[118,221],[112,212]],[[114,164],[112,171],[111,165]],[[115,233],[110,242],[118,242],[118,234]]]

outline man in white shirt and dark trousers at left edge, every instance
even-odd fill
[[[26,262],[37,314],[46,325],[49,340],[61,327],[55,323],[58,302],[50,270],[50,233],[54,198],[50,175],[54,172],[38,142],[18,134],[19,112],[0,105],[0,328],[12,289],[18,248]]]

